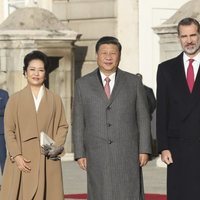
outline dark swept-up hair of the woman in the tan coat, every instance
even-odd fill
[[[32,51],[24,57],[23,75],[25,75],[28,65],[32,60],[41,60],[44,63],[45,76],[47,77],[49,69],[49,61],[47,55],[41,51]]]

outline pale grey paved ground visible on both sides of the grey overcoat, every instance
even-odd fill
[[[63,161],[65,194],[86,193],[86,173],[74,161]],[[156,159],[143,168],[145,193],[165,194],[166,168],[157,167]],[[2,177],[0,176],[0,183]]]

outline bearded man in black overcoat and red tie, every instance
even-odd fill
[[[200,24],[177,27],[183,52],[159,64],[157,139],[167,164],[167,199],[200,199]]]

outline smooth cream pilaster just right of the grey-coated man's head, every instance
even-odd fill
[[[139,71],[138,0],[117,1],[117,35],[122,43],[120,67],[129,72]]]

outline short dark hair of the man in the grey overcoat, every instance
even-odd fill
[[[122,50],[122,46],[117,38],[112,37],[112,36],[104,36],[100,38],[96,43],[96,47],[95,47],[96,53],[99,51],[99,48],[102,44],[114,44],[118,47],[119,52],[121,52]]]

